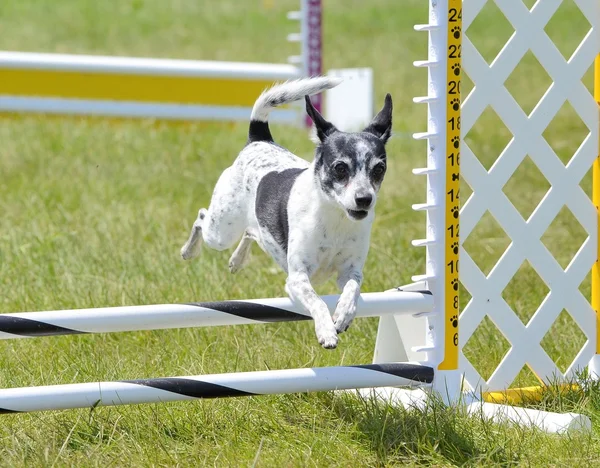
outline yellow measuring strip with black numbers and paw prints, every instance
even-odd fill
[[[458,212],[460,208],[460,75],[462,0],[448,0],[446,86],[446,284],[444,360],[440,370],[458,369]]]

